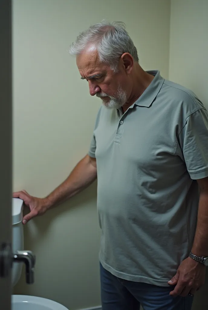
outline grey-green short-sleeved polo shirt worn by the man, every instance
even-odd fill
[[[89,155],[97,160],[102,266],[168,286],[193,244],[208,113],[192,91],[148,73],[153,81],[124,114],[100,108]]]

